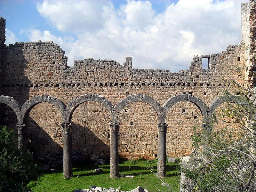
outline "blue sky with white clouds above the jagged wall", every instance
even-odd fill
[[[0,0],[6,42],[53,41],[74,60],[132,57],[133,68],[187,69],[238,44],[246,0]]]

